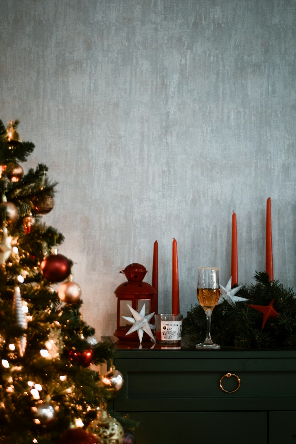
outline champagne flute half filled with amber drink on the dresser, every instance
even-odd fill
[[[220,296],[219,268],[198,267],[197,299],[205,310],[207,331],[205,341],[197,344],[197,349],[220,349],[211,338],[211,316]]]

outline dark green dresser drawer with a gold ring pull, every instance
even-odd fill
[[[278,410],[295,408],[296,360],[244,359],[125,359],[114,360],[125,384],[116,394],[117,411]],[[220,380],[233,373],[240,388],[224,392]],[[225,377],[231,392],[237,377]]]

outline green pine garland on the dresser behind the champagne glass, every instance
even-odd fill
[[[296,347],[296,295],[279,281],[270,282],[268,274],[255,274],[255,284],[244,285],[237,296],[244,302],[223,302],[215,307],[211,336],[221,346],[238,348]],[[262,313],[249,307],[268,305],[274,299],[276,318],[270,318],[262,329]],[[197,344],[205,339],[205,312],[195,305],[183,320],[182,336]]]

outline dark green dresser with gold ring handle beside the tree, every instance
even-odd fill
[[[295,349],[152,345],[118,342],[114,358],[125,383],[113,408],[140,421],[137,444],[296,444]]]

